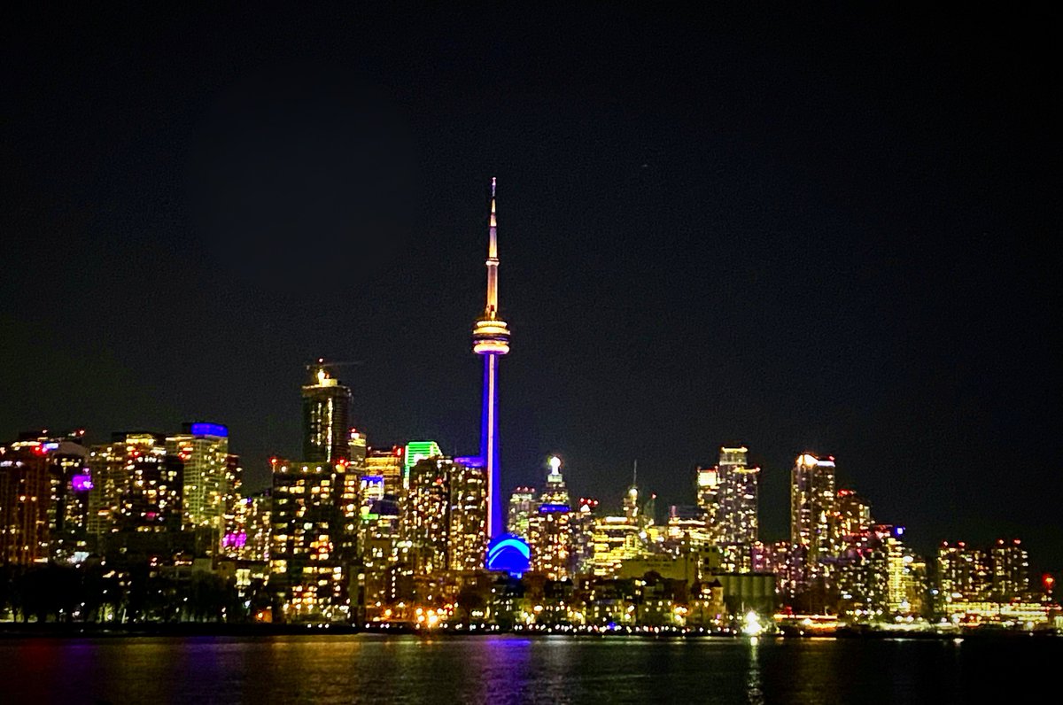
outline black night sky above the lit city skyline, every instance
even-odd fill
[[[663,514],[742,442],[778,539],[810,450],[1063,567],[1054,21],[500,6],[5,6],[0,437],[216,420],[265,486],[324,356],[475,452],[496,175],[507,490]]]

